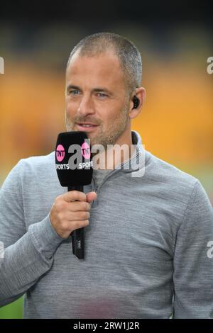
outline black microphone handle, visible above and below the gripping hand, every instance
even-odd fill
[[[83,185],[68,186],[68,191],[84,192]],[[84,259],[84,228],[76,229],[71,233],[72,236],[72,253],[78,259]]]

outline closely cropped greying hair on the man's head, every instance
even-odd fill
[[[136,45],[121,35],[117,35],[116,33],[94,33],[86,36],[72,49],[67,67],[70,64],[72,56],[77,51],[80,56],[92,57],[102,54],[107,50],[113,50],[114,54],[119,58],[121,68],[124,71],[126,89],[131,94],[136,88],[141,86],[141,54]]]

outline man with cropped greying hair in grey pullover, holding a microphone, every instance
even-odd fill
[[[128,149],[94,170],[87,194],[60,186],[54,152],[13,168],[0,197],[1,305],[25,293],[26,318],[213,317],[212,205],[200,181],[142,149],[131,119],[144,99],[129,40],[98,33],[72,50],[67,130],[87,132],[102,158],[109,145]],[[71,251],[80,227],[84,260]]]

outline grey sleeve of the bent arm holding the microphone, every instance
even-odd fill
[[[13,302],[53,265],[62,238],[49,215],[26,230],[20,175],[24,160],[11,170],[0,189],[0,306]]]

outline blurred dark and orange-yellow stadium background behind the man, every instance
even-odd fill
[[[133,129],[150,152],[200,179],[213,203],[212,20],[205,2],[185,2],[64,1],[42,10],[37,3],[2,4],[0,186],[19,159],[55,149],[65,131],[70,50],[85,35],[109,31],[131,39],[142,55],[147,97]],[[22,298],[0,308],[0,318],[21,317]]]

